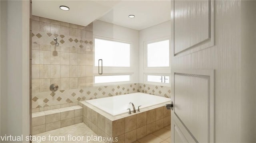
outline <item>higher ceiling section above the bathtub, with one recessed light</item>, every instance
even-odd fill
[[[141,30],[170,20],[169,0],[121,1],[99,20]],[[135,18],[128,18],[130,14]]]

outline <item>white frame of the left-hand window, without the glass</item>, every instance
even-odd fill
[[[121,43],[130,44],[130,67],[109,67],[105,66],[103,68],[103,74],[98,74],[98,66],[95,66],[95,39],[102,39],[107,41],[116,41]],[[131,84],[134,81],[134,42],[125,41],[120,39],[114,39],[109,37],[103,37],[99,35],[93,35],[93,86],[112,86],[119,84]],[[104,62],[104,61],[103,61]],[[104,83],[95,83],[95,76],[111,76],[111,75],[130,75],[130,81],[121,81],[121,82],[104,82]]]

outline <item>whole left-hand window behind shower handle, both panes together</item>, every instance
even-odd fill
[[[94,86],[132,82],[131,43],[95,37],[94,51]]]

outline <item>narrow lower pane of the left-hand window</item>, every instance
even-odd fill
[[[130,81],[130,75],[95,76],[94,83]]]

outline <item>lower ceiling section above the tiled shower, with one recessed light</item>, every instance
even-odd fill
[[[86,26],[100,18],[119,1],[114,0],[32,0],[32,15]],[[60,10],[59,6],[70,10]]]

